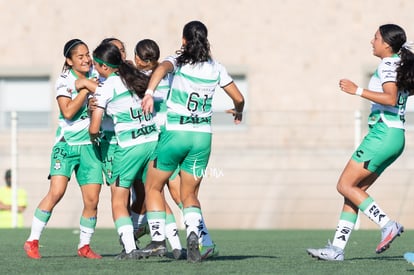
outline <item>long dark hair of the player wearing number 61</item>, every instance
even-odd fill
[[[211,59],[207,27],[200,21],[191,21],[183,28],[186,43],[177,51],[177,65],[195,64]]]

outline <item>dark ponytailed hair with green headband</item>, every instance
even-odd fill
[[[135,92],[139,98],[143,98],[148,86],[148,76],[140,72],[129,62],[122,60],[121,52],[112,43],[101,43],[94,51],[95,62],[102,62],[107,66],[118,68],[119,76],[130,92]],[[96,59],[99,59],[97,61]]]

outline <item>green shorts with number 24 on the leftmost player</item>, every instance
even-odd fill
[[[70,179],[75,171],[79,185],[102,184],[100,152],[92,144],[69,145],[60,141],[53,146],[50,156],[50,176],[65,176]]]

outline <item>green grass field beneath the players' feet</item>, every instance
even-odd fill
[[[180,233],[184,244],[185,232]],[[414,231],[404,232],[382,254],[375,254],[379,231],[355,231],[345,261],[326,262],[305,249],[325,246],[333,230],[210,230],[220,255],[196,264],[168,257],[115,260],[121,250],[115,229],[99,228],[92,248],[103,255],[101,260],[76,256],[76,230],[52,228],[40,241],[42,259],[32,260],[23,251],[28,234],[29,229],[0,230],[0,274],[414,274],[414,266],[402,257],[414,251]],[[145,236],[142,244],[148,241]]]

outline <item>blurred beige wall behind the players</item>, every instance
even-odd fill
[[[182,28],[200,20],[213,57],[225,65],[247,106],[242,125],[217,91],[213,149],[200,198],[209,228],[335,228],[340,173],[366,133],[369,102],[340,92],[340,78],[367,87],[380,60],[371,39],[386,23],[414,40],[411,0],[0,0],[0,172],[17,153],[16,182],[28,193],[25,226],[46,194],[57,127],[54,85],[72,38],[90,52],[107,37],[155,40],[161,59],[181,46]],[[11,114],[17,114],[12,134]],[[15,142],[15,143],[14,143]],[[403,155],[370,194],[406,228],[414,228],[414,103]],[[73,177],[49,227],[78,227],[81,194]],[[109,188],[98,227],[113,227]],[[175,207],[176,217],[180,214]],[[375,225],[361,217],[361,228]]]

